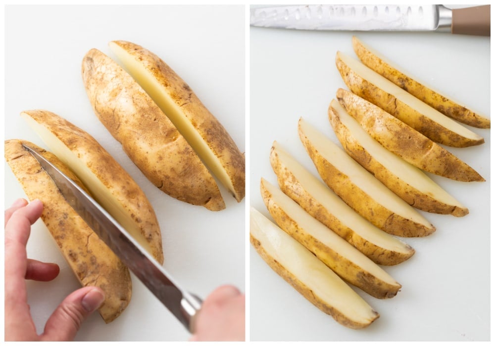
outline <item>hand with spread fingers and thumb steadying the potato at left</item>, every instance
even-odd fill
[[[53,280],[60,269],[55,263],[27,258],[31,225],[41,216],[43,203],[24,199],[5,211],[5,341],[71,341],[81,323],[103,303],[98,287],[83,287],[65,298],[38,335],[27,303],[26,279]]]

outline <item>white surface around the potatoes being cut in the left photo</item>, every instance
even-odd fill
[[[5,8],[5,138],[46,145],[19,117],[47,109],[92,134],[135,178],[162,230],[165,268],[186,289],[206,298],[221,284],[245,285],[245,206],[225,189],[227,209],[210,212],[155,188],[132,164],[94,115],[81,79],[91,48],[111,55],[107,43],[143,45],[167,62],[245,151],[245,7],[241,6],[7,6]],[[228,30],[226,30],[228,28]],[[5,205],[25,194],[5,165]],[[56,262],[49,283],[28,282],[39,332],[56,305],[79,288],[41,221],[32,229],[28,256]],[[133,276],[133,297],[114,322],[96,313],[79,341],[182,341],[189,333]]]

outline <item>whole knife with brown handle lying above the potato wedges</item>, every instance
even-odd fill
[[[490,5],[290,5],[253,7],[250,25],[336,31],[438,31],[490,36]]]

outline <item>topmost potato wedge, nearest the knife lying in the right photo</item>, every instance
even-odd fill
[[[487,119],[480,114],[476,114],[466,107],[442,96],[437,91],[406,76],[387,62],[383,56],[380,56],[376,51],[359,41],[355,36],[352,37],[352,46],[363,64],[397,86],[403,88],[411,95],[435,108],[437,111],[466,125],[481,129],[490,129],[490,119]]]

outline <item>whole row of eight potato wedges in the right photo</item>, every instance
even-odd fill
[[[375,298],[396,296],[401,285],[380,265],[414,255],[398,237],[436,231],[418,210],[469,213],[427,173],[485,181],[444,146],[484,143],[460,123],[486,129],[490,120],[397,71],[356,37],[352,45],[362,62],[337,52],[349,90],[339,88],[328,108],[342,147],[299,119],[299,138],[317,177],[273,142],[269,159],[280,189],[263,177],[260,189],[275,222],[251,208],[250,241],[308,301],[344,326],[365,328],[379,313],[346,283]]]

